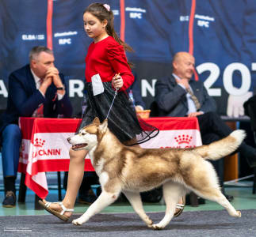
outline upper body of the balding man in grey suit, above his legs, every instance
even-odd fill
[[[198,116],[216,111],[216,103],[208,96],[201,81],[190,80],[193,76],[195,58],[189,53],[178,52],[173,59],[173,74],[157,81],[155,85],[155,100],[159,106],[160,115],[183,117]],[[187,89],[194,93],[199,103],[197,109]]]

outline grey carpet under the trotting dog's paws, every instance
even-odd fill
[[[154,223],[164,213],[148,213]],[[71,220],[78,218],[72,216]],[[162,231],[153,231],[135,213],[97,214],[86,224],[74,226],[55,216],[0,216],[1,236],[256,236],[256,210],[243,210],[241,218],[226,211],[185,212]]]

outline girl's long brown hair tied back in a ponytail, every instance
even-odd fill
[[[130,47],[123,40],[120,40],[120,37],[117,36],[117,32],[115,32],[113,11],[111,9],[109,9],[108,11],[103,5],[103,3],[92,3],[89,6],[87,6],[83,13],[91,13],[92,15],[94,15],[94,17],[97,17],[97,19],[101,22],[106,19],[108,21],[108,24],[105,29],[108,35],[112,36],[117,41],[117,43],[122,45],[124,47],[124,51],[133,52],[132,47]]]

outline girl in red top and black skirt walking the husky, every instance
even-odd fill
[[[109,5],[91,4],[83,14],[83,21],[87,35],[94,42],[90,44],[86,55],[87,107],[79,129],[98,117],[101,122],[108,119],[109,130],[125,145],[139,144],[155,137],[158,130],[145,123],[142,129],[135,109],[128,100],[125,90],[132,85],[134,77],[124,50],[132,51],[132,48],[117,36]],[[75,199],[84,174],[86,154],[86,150],[70,150],[67,192],[63,201],[40,201],[44,209],[61,220],[67,221],[74,211]]]

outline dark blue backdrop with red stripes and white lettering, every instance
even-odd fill
[[[2,0],[0,2],[0,109],[6,107],[8,77],[29,62],[36,45],[52,45],[55,65],[67,78],[67,92],[81,112],[86,49],[83,30],[86,0]],[[101,1],[99,1],[101,2]],[[143,100],[150,107],[155,81],[171,72],[178,51],[196,58],[197,80],[204,81],[222,115],[256,88],[256,1],[254,0],[112,0],[115,28],[130,44]],[[52,31],[51,31],[52,28]],[[255,61],[255,62],[254,62]]]

